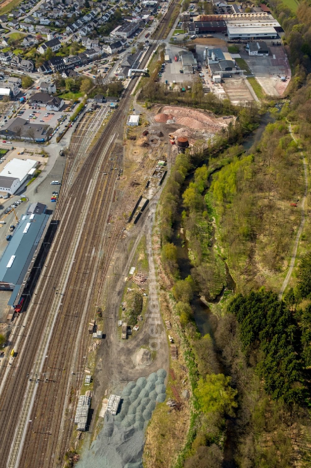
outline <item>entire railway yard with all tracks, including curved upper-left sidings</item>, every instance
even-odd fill
[[[176,3],[173,1],[170,8]],[[169,17],[161,21],[155,39],[163,37]],[[156,43],[141,66],[155,48]],[[124,127],[136,82],[137,78],[130,82],[118,108],[109,116],[106,111],[85,114],[71,138],[51,221],[54,239],[40,264],[41,275],[27,312],[14,322],[0,367],[1,468],[63,465],[72,446],[75,410],[92,342],[88,324],[108,292],[113,293],[110,307],[106,307],[102,352],[108,361],[113,359],[109,346],[120,305],[113,300],[120,301],[123,272],[142,235],[140,227],[125,230],[139,188],[130,177],[122,190],[116,186],[123,171]],[[106,124],[93,138],[93,119],[98,123],[105,117]],[[141,220],[144,227],[148,223],[152,226],[158,196],[159,190]],[[124,245],[130,245],[128,256]],[[156,300],[155,290],[153,294]],[[8,366],[12,350],[15,357]],[[127,352],[132,352],[130,347]],[[165,350],[163,359],[164,355]],[[112,365],[105,367],[106,380]],[[158,368],[156,363],[154,367]]]

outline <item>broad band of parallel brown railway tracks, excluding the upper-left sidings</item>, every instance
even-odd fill
[[[173,7],[176,3],[173,2]],[[162,20],[159,31],[165,28],[167,21]],[[156,44],[152,46],[151,53],[155,47]],[[147,63],[147,60],[148,57],[143,61]],[[135,81],[131,81],[119,108],[114,111],[71,184],[68,174],[72,171],[70,165],[74,155],[67,160],[61,197],[52,221],[59,224],[57,235],[32,300],[32,314],[28,314],[22,327],[18,358],[14,360],[0,395],[0,414],[3,417],[0,468],[56,466],[69,448],[73,415],[85,368],[84,356],[90,343],[85,329],[94,313],[91,299],[95,298],[94,303],[99,300],[101,285],[125,223],[124,219],[117,219],[110,238],[104,244],[100,233],[105,232],[111,212],[114,168],[121,168],[120,156],[116,161],[109,161],[114,146],[109,138],[112,134],[119,134],[122,138],[125,111]],[[83,138],[82,133],[77,135],[78,138]],[[110,163],[109,169],[112,170],[107,172],[111,176],[105,176],[106,166]],[[133,205],[134,190],[128,195],[121,212],[130,211]],[[99,268],[98,254],[103,245],[106,255]],[[41,285],[43,289],[39,291]],[[77,345],[75,336],[79,335],[81,340]],[[67,382],[73,371],[76,371],[75,378],[69,386]],[[70,414],[64,418],[66,399],[72,404]],[[21,451],[23,443],[24,450]]]

